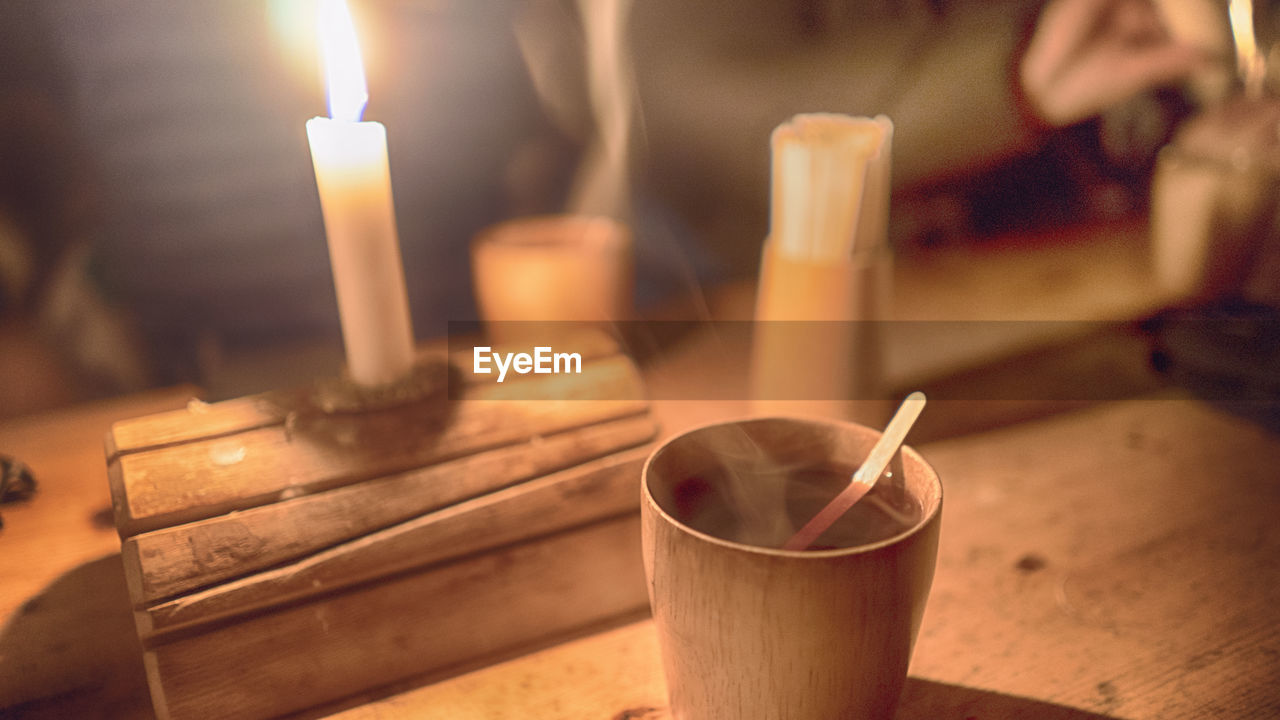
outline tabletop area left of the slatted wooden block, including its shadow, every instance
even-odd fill
[[[0,506],[0,716],[150,716],[102,439],[116,420],[195,395],[177,387],[0,424],[0,454],[38,483],[29,501]]]

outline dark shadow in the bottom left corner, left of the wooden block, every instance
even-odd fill
[[[58,578],[0,629],[0,717],[155,717],[119,555]]]

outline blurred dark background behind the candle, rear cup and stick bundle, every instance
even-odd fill
[[[1142,218],[1161,147],[1248,74],[1217,0],[352,10],[419,340],[476,316],[468,243],[513,217],[630,223],[641,314],[751,277],[768,135],[799,111],[893,119],[900,258]],[[1249,12],[1265,104],[1276,10]],[[6,0],[0,36],[0,416],[335,374],[314,3]],[[1149,61],[1121,78],[1129,55]]]

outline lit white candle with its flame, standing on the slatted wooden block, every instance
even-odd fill
[[[321,0],[320,45],[329,118],[307,120],[347,370],[360,386],[406,377],[413,331],[392,204],[387,129],[361,122],[369,91],[346,0]]]

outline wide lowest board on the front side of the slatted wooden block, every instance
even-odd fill
[[[635,611],[639,537],[628,514],[161,644],[161,717],[275,716]]]

